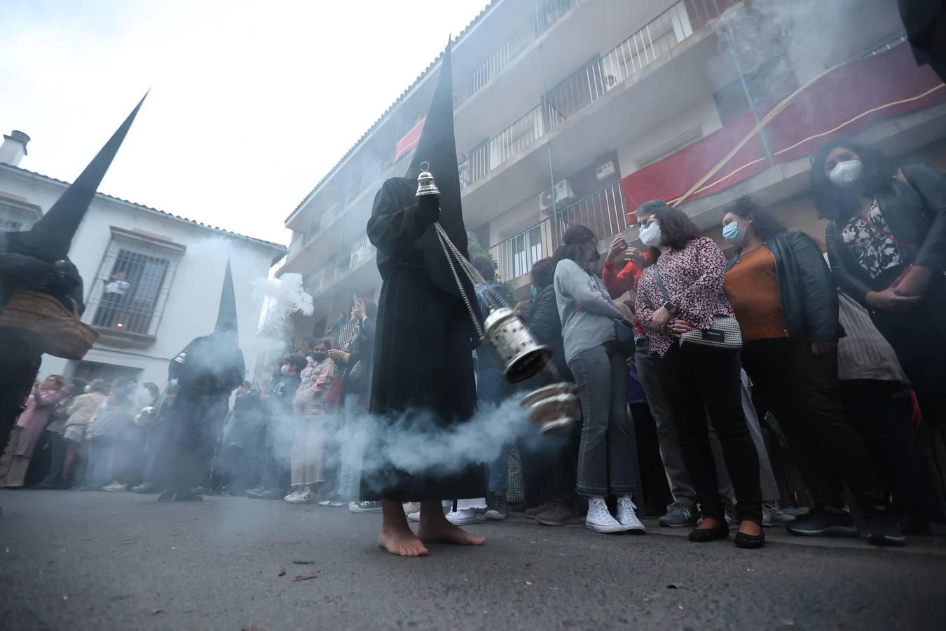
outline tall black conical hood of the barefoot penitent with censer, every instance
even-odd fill
[[[465,253],[466,229],[460,205],[460,168],[457,167],[457,141],[453,133],[452,48],[453,44],[447,43],[424,130],[421,131],[411,167],[405,177],[416,181],[423,170],[421,163],[429,163],[430,172],[440,189],[440,224],[444,226],[450,240]]]

